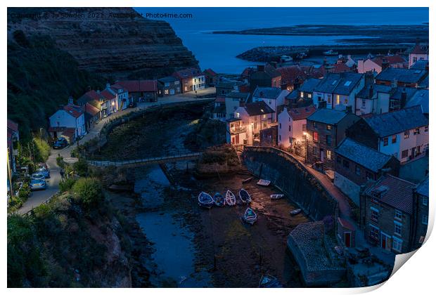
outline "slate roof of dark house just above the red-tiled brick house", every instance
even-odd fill
[[[342,140],[338,147],[336,147],[335,152],[373,172],[383,169],[385,164],[392,158],[392,156],[385,155],[378,152],[378,150],[357,143],[357,141],[351,138]]]

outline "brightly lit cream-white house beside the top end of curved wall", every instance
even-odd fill
[[[232,145],[255,145],[260,131],[274,125],[274,110],[264,101],[247,103],[236,108],[233,118],[227,119],[226,141]]]

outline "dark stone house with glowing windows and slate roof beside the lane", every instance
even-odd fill
[[[335,147],[345,138],[345,131],[359,120],[351,112],[321,107],[307,117],[307,163],[321,162],[323,169],[334,169]]]

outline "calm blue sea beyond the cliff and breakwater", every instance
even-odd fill
[[[253,36],[210,34],[304,24],[416,25],[428,22],[428,8],[135,8],[143,13],[191,13],[192,18],[155,18],[169,22],[202,69],[240,74],[249,65],[236,55],[256,46],[331,45],[356,36]]]

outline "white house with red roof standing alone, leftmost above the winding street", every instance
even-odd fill
[[[68,105],[52,114],[49,121],[49,133],[53,138],[63,136],[71,143],[78,136],[86,134],[84,112],[81,107],[72,104],[72,98],[68,99]],[[72,129],[74,129],[73,132]],[[65,135],[64,133],[67,134]]]

